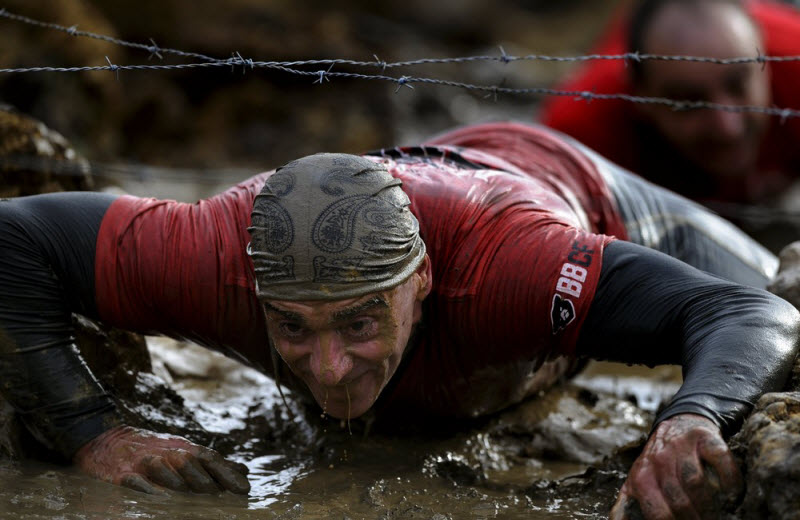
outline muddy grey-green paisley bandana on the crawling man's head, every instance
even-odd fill
[[[355,155],[311,155],[278,168],[248,228],[258,297],[341,300],[405,281],[425,244],[401,184]]]

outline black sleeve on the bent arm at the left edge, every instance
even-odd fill
[[[75,346],[72,313],[97,314],[94,259],[111,195],[0,200],[0,391],[64,456],[118,424]]]

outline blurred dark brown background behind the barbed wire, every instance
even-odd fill
[[[624,0],[8,0],[9,12],[160,47],[253,60],[403,61],[586,52]],[[181,63],[0,18],[0,67]],[[193,60],[197,61],[197,60]],[[551,85],[568,63],[421,65],[391,70],[477,84]],[[320,66],[307,70],[317,70]],[[327,68],[327,67],[324,67]],[[334,70],[345,70],[335,68]],[[376,67],[362,70],[381,71]],[[195,200],[320,151],[412,144],[450,127],[530,121],[539,98],[436,85],[314,77],[241,67],[0,75],[0,102],[60,132],[105,182]]]

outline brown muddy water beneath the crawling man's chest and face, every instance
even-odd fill
[[[607,456],[636,445],[677,388],[673,369],[592,365],[480,425],[392,435],[310,415],[263,375],[199,348],[151,349],[212,444],[248,465],[250,495],[154,497],[26,461],[0,465],[0,518],[603,518],[626,467]]]

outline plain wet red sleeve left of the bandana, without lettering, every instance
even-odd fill
[[[246,254],[250,211],[264,178],[196,204],[129,196],[112,203],[97,241],[101,318],[222,350],[266,352]]]

